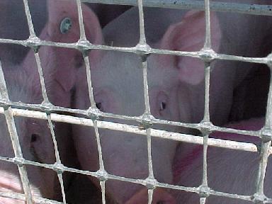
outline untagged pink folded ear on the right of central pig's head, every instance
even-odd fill
[[[220,47],[221,30],[215,13],[210,13],[212,49],[217,52]],[[161,47],[166,50],[199,51],[205,43],[204,11],[188,11],[180,23],[166,30]],[[170,56],[172,57],[172,56]],[[204,79],[204,63],[197,58],[177,57],[175,67],[179,69],[179,79],[188,84],[199,84]],[[164,59],[169,62],[169,59]]]

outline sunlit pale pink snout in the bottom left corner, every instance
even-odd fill
[[[42,197],[38,188],[35,188],[33,186],[31,186],[30,188],[33,197]],[[6,172],[0,172],[0,192],[23,194],[23,188],[18,176],[8,174]],[[26,203],[25,200],[0,197],[0,204],[24,204],[24,203]]]

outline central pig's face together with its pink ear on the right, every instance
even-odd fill
[[[177,49],[175,46],[180,44],[174,42],[179,42],[179,38],[184,37],[183,35],[186,37],[188,34],[184,33],[179,36],[179,31],[187,26],[188,21],[195,21],[194,23],[200,25],[201,29],[205,28],[203,17],[203,12],[189,11],[184,16],[183,21],[166,30],[162,40],[154,46],[162,49]],[[216,26],[217,18],[214,16],[212,19],[215,21]],[[191,30],[191,32],[193,31]],[[200,38],[200,34],[195,38]],[[215,42],[218,42],[220,31],[214,31],[213,35],[215,35]],[[203,36],[201,39],[192,47],[188,48],[186,47],[188,45],[183,44],[181,46],[183,46],[183,50],[200,50],[201,46],[203,46]],[[216,49],[218,47],[217,45]],[[148,57],[149,102],[151,113],[156,118],[184,122],[191,121],[190,103],[188,102],[190,99],[188,98],[188,91],[186,91],[186,83],[199,84],[200,81],[203,81],[204,75],[203,70],[200,76],[196,74],[197,71],[191,71],[188,68],[189,63],[191,63],[191,66],[196,67],[199,72],[203,69],[202,62],[198,60],[192,61],[187,58],[159,55]],[[142,115],[145,112],[142,64],[139,57],[123,52],[103,52],[101,53],[101,60],[92,62],[91,65],[93,65],[91,67],[91,77],[94,86],[94,98],[96,106],[101,111],[120,115]],[[75,107],[87,109],[90,103],[87,94],[86,74],[79,73],[77,80],[74,97]],[[184,86],[180,87],[181,83],[184,83]],[[175,128],[162,126],[160,128],[177,131]],[[86,138],[88,132],[90,132],[89,139]],[[147,140],[145,137],[109,130],[100,130],[99,133],[105,168],[108,173],[133,179],[147,178]],[[94,132],[91,133],[91,130],[82,127],[75,127],[74,137],[82,167],[93,171],[97,170],[98,158]],[[154,176],[158,181],[171,183],[171,164],[176,145],[177,142],[174,141],[152,138]],[[164,166],[161,165],[162,161],[164,161]],[[125,188],[126,185],[126,183],[119,181],[109,181],[106,190],[119,203],[125,203],[136,191],[140,191],[140,188],[142,188],[140,186]],[[162,200],[164,199],[162,198]]]

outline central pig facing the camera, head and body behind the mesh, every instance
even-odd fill
[[[256,1],[245,2],[254,4]],[[73,6],[74,3],[70,2],[70,4]],[[43,39],[50,39],[54,42],[77,42],[79,39],[77,24],[72,26],[68,35],[62,35],[59,30],[51,29],[51,24],[56,29],[54,22],[60,22],[67,17],[65,7],[59,4],[59,1],[52,5],[59,12],[49,15],[54,21],[49,21],[47,24],[47,35]],[[203,47],[205,42],[205,13],[203,11],[145,8],[144,13],[147,42],[152,47],[183,51],[198,51]],[[137,8],[126,11],[108,23],[103,30],[94,13],[85,6],[83,6],[83,16],[86,38],[91,43],[132,47],[139,41]],[[262,45],[267,37],[266,33],[270,28],[266,26],[270,25],[268,20],[268,17],[263,16],[212,12],[212,49],[228,55],[266,56],[267,53],[263,53],[261,47],[257,45]],[[55,66],[63,73],[56,74],[55,79],[58,81],[57,86],[60,86],[60,91],[57,92],[64,93],[59,94],[60,98],[67,98],[64,101],[70,100],[66,104],[67,107],[88,109],[90,102],[81,53],[77,50],[62,52],[56,47],[47,47],[46,53],[47,60],[42,63],[52,63],[51,67]],[[136,55],[91,50],[89,61],[91,62],[94,98],[98,109],[120,115],[142,115],[144,113],[141,60]],[[244,75],[251,66],[253,65],[241,62],[222,62],[220,60],[212,62],[210,118],[215,125],[227,123],[234,87],[244,79]],[[147,67],[152,115],[164,120],[199,123],[203,119],[204,112],[203,62],[190,57],[150,55],[147,58]],[[117,119],[103,118],[103,120],[118,122]],[[181,131],[180,128],[169,128],[164,125],[155,127]],[[98,151],[94,130],[73,125],[72,131],[82,168],[89,171],[98,170]],[[188,132],[188,130],[184,131]],[[147,140],[145,137],[111,130],[99,130],[99,133],[103,161],[109,174],[133,179],[147,178]],[[152,162],[157,181],[172,182],[171,166],[177,145],[178,142],[152,138]],[[186,155],[188,151],[186,145],[181,144],[179,148],[184,149],[182,152]],[[164,161],[163,166],[162,161]],[[98,185],[97,181],[94,182]],[[143,191],[146,189],[140,185],[106,181],[106,192],[118,203],[146,200],[139,197],[146,194],[142,193]],[[164,201],[175,203],[175,198],[166,191],[154,195],[157,203]]]

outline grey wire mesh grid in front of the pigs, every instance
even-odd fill
[[[148,188],[148,196],[149,196],[149,203],[152,203],[152,194],[154,191],[154,188],[156,187],[163,187],[163,188],[171,188],[181,191],[188,191],[188,192],[195,192],[200,195],[200,203],[205,203],[205,199],[207,195],[215,195],[215,196],[225,196],[228,198],[239,198],[242,200],[254,200],[261,201],[265,203],[272,203],[271,198],[266,198],[266,196],[263,196],[263,180],[266,173],[266,165],[269,155],[272,152],[271,148],[271,127],[272,127],[272,115],[271,115],[271,107],[272,107],[272,82],[270,82],[269,87],[269,93],[268,93],[268,103],[267,103],[267,112],[266,112],[266,123],[264,127],[259,131],[246,131],[246,130],[233,130],[230,128],[220,128],[217,126],[212,125],[210,123],[210,115],[209,115],[209,86],[210,86],[210,62],[212,60],[239,60],[242,62],[255,62],[260,64],[267,64],[268,67],[272,68],[271,60],[272,55],[268,55],[268,57],[240,57],[240,56],[232,56],[232,55],[221,55],[215,53],[211,49],[211,43],[210,43],[210,9],[213,11],[232,11],[232,12],[239,12],[239,13],[248,13],[253,15],[269,15],[272,16],[271,6],[261,6],[261,5],[246,5],[246,4],[221,4],[219,2],[214,2],[210,5],[209,0],[203,1],[155,1],[155,0],[149,0],[145,1],[145,4],[143,4],[142,0],[137,1],[137,6],[139,8],[139,15],[140,15],[140,41],[137,46],[135,47],[112,47],[112,46],[106,46],[106,45],[92,45],[88,40],[86,40],[86,35],[84,31],[84,24],[83,24],[83,17],[82,17],[82,11],[81,11],[81,1],[77,1],[77,8],[79,13],[79,25],[80,25],[80,39],[76,43],[57,43],[57,42],[48,42],[44,40],[40,40],[37,35],[35,35],[35,31],[33,28],[33,23],[31,20],[31,15],[28,7],[28,0],[23,0],[25,10],[26,10],[26,16],[28,19],[28,27],[30,30],[30,37],[28,40],[11,40],[11,39],[0,39],[1,43],[13,43],[18,45],[24,45],[32,48],[35,52],[35,60],[38,64],[38,72],[40,76],[40,84],[42,86],[42,97],[43,102],[39,105],[34,104],[26,104],[26,103],[17,103],[10,101],[8,99],[8,93],[6,91],[6,83],[4,80],[4,74],[1,69],[1,63],[0,63],[0,90],[1,90],[1,100],[0,100],[0,113],[4,114],[6,118],[6,123],[8,124],[8,131],[11,137],[13,150],[15,153],[15,157],[13,158],[6,158],[6,157],[0,157],[0,160],[6,161],[6,162],[12,162],[18,166],[18,170],[21,176],[21,181],[23,183],[23,191],[24,195],[20,193],[6,193],[6,192],[0,192],[0,196],[6,197],[6,198],[16,198],[21,200],[26,200],[26,203],[33,203],[33,200],[35,203],[60,203],[55,200],[48,200],[45,198],[33,198],[30,192],[30,184],[28,181],[28,176],[26,173],[26,164],[34,165],[34,166],[41,166],[47,169],[52,169],[57,172],[58,179],[60,181],[60,185],[62,188],[62,196],[63,196],[63,203],[66,203],[65,200],[65,193],[64,193],[64,185],[62,180],[62,173],[64,171],[70,171],[74,173],[79,174],[85,174],[94,176],[100,181],[101,189],[102,189],[102,201],[103,203],[106,203],[105,200],[105,182],[107,179],[115,179],[119,181],[128,181],[132,183],[139,183],[144,186],[147,186]],[[88,2],[94,2],[94,3],[104,3],[104,4],[127,4],[127,5],[135,5],[135,1],[132,0],[106,0],[103,2],[100,1],[91,1],[91,0],[85,0]],[[157,50],[149,47],[147,45],[146,39],[145,39],[145,29],[144,29],[144,18],[143,18],[143,10],[142,6],[157,6],[157,7],[165,7],[165,8],[196,8],[205,10],[205,23],[206,23],[206,35],[205,35],[205,45],[203,49],[201,49],[198,52],[181,52],[181,51],[171,51],[171,50]],[[87,73],[87,79],[88,79],[88,86],[89,86],[89,98],[91,101],[91,107],[84,111],[84,110],[76,110],[71,108],[63,108],[63,107],[57,107],[53,106],[50,101],[48,101],[46,90],[45,90],[45,82],[42,77],[42,67],[40,64],[40,57],[39,52],[36,49],[40,45],[45,46],[56,46],[56,47],[71,47],[74,49],[77,49],[82,52],[82,55],[84,56],[84,62],[86,65],[86,73]],[[143,76],[144,76],[144,89],[145,89],[145,113],[141,115],[140,117],[129,117],[126,115],[115,115],[111,113],[103,113],[99,111],[96,108],[96,103],[94,101],[94,95],[93,95],[93,89],[91,86],[91,69],[90,69],[90,63],[89,63],[89,57],[88,55],[84,55],[86,53],[86,50],[92,50],[92,49],[100,49],[100,50],[118,50],[121,52],[133,52],[137,55],[142,56],[142,59],[147,59],[147,55],[149,54],[164,54],[164,55],[181,55],[181,56],[189,56],[189,57],[197,57],[200,60],[203,60],[205,62],[205,115],[202,120],[202,122],[198,124],[192,124],[192,123],[179,123],[179,122],[173,122],[173,121],[167,121],[167,120],[159,120],[154,118],[150,113],[150,107],[149,107],[149,94],[148,94],[148,84],[147,84],[147,63],[146,60],[142,61],[142,70],[143,70]],[[272,81],[272,80],[271,80]],[[13,108],[16,107],[16,108]],[[23,109],[22,109],[23,108]],[[28,109],[28,110],[26,110]],[[34,111],[35,110],[35,111]],[[38,111],[36,111],[38,110]],[[86,115],[89,117],[89,119],[86,118],[78,118],[74,116],[69,115],[62,115],[59,114],[58,111],[64,111],[66,113],[79,113],[82,115]],[[50,131],[52,135],[52,140],[55,145],[55,157],[56,162],[55,164],[40,164],[38,162],[32,162],[29,160],[26,160],[23,158],[23,154],[21,152],[21,147],[18,142],[18,135],[16,132],[16,126],[14,123],[13,115],[21,115],[23,117],[28,118],[40,118],[42,120],[47,120],[48,125],[50,126]],[[100,121],[99,117],[103,116],[106,118],[119,118],[123,120],[135,120],[141,124],[144,125],[145,130],[140,130],[139,127],[133,126],[133,125],[125,125],[125,124],[117,124],[117,123],[111,123],[106,121]],[[96,139],[97,139],[97,145],[98,145],[98,153],[99,153],[99,165],[100,169],[96,172],[91,171],[81,171],[79,169],[72,169],[68,168],[67,166],[63,166],[62,162],[60,161],[60,155],[57,149],[57,142],[55,138],[55,133],[53,130],[52,121],[55,122],[65,122],[65,123],[72,123],[77,125],[86,125],[86,126],[92,126],[95,129],[96,132]],[[164,130],[154,130],[150,128],[151,124],[166,124],[166,125],[176,125],[180,127],[185,128],[195,128],[203,132],[204,137],[200,136],[193,136],[193,135],[186,135],[176,132],[167,132]],[[103,158],[102,158],[102,151],[101,144],[100,144],[100,137],[99,137],[99,129],[100,128],[107,128],[109,130],[120,130],[125,132],[132,132],[137,133],[139,137],[141,135],[145,135],[147,137],[147,147],[148,147],[148,160],[149,160],[149,176],[147,179],[141,180],[141,179],[128,179],[121,176],[115,176],[108,174],[106,170],[104,169],[103,165]],[[213,131],[221,131],[221,132],[234,132],[242,135],[251,135],[252,137],[260,137],[262,140],[261,143],[261,159],[259,162],[259,174],[257,178],[257,191],[254,194],[254,199],[252,199],[252,196],[239,196],[229,193],[222,193],[218,191],[212,191],[210,188],[208,188],[208,179],[207,179],[207,147],[215,146],[215,147],[225,147],[229,149],[240,149],[244,151],[249,152],[258,152],[258,149],[256,145],[250,144],[250,143],[243,143],[243,142],[234,142],[234,141],[228,141],[225,140],[219,140],[219,139],[212,139],[209,138],[210,132]],[[166,183],[159,183],[154,179],[153,169],[152,169],[152,156],[151,156],[151,137],[160,137],[165,138],[169,140],[177,140],[181,142],[190,142],[198,145],[203,145],[203,183],[195,188],[189,188],[185,186],[174,186],[169,185]]]

